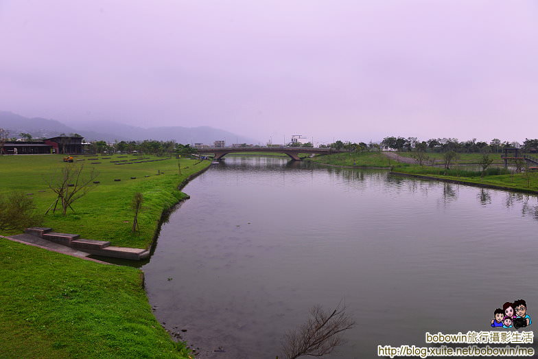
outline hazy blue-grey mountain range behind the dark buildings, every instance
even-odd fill
[[[38,137],[54,137],[78,133],[86,141],[102,140],[113,141],[141,141],[144,139],[156,139],[159,141],[174,140],[178,143],[207,143],[226,139],[226,143],[258,143],[256,139],[251,139],[242,135],[220,130],[209,126],[198,127],[152,127],[141,128],[117,122],[94,121],[83,124],[76,124],[73,127],[62,124],[55,119],[45,119],[41,117],[23,117],[8,111],[0,111],[0,128],[5,128],[10,132],[10,137],[20,137],[21,132],[30,133]],[[99,128],[99,131],[95,131]]]

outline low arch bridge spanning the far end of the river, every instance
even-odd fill
[[[215,160],[220,160],[226,154],[234,152],[274,152],[288,154],[294,161],[301,161],[299,157],[300,153],[309,154],[331,154],[344,152],[342,150],[335,150],[334,148],[315,148],[315,147],[211,147],[211,148],[198,148],[199,154],[215,154]]]

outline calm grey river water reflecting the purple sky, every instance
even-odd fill
[[[278,157],[226,158],[184,192],[142,269],[157,319],[202,358],[274,358],[341,300],[357,325],[327,358],[488,331],[520,298],[538,320],[536,196]]]

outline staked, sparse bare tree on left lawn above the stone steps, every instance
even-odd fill
[[[71,208],[74,212],[75,210],[71,207],[71,204],[97,187],[94,181],[99,176],[99,172],[92,169],[89,174],[83,174],[82,170],[84,170],[84,165],[66,163],[60,170],[56,170],[51,174],[47,184],[54,193],[58,194],[58,197],[45,214],[49,213],[52,206],[54,206],[52,210],[54,213],[58,202],[62,205],[62,214],[64,216],[67,214],[68,208]]]

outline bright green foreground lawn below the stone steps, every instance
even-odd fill
[[[152,314],[141,270],[0,238],[1,358],[187,358]]]

